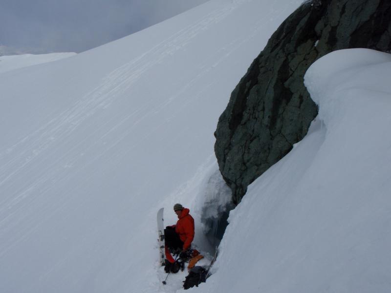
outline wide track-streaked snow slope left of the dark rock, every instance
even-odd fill
[[[179,288],[161,284],[156,212],[166,208],[171,224],[174,203],[190,207],[195,242],[207,248],[199,217],[222,186],[218,116],[300,3],[212,0],[71,58],[1,73],[0,292]]]

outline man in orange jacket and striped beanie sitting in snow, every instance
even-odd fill
[[[194,219],[189,213],[190,210],[183,208],[181,204],[175,204],[174,212],[179,218],[176,225],[168,226],[164,230],[166,258],[170,262],[174,261],[170,249],[185,252],[190,249],[194,239]]]

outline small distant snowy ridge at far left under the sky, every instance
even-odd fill
[[[52,62],[76,55],[76,53],[50,53],[50,54],[22,54],[12,56],[0,56],[0,73],[37,65],[46,62]]]

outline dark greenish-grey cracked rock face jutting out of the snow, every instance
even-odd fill
[[[391,50],[390,0],[312,0],[291,14],[231,94],[215,132],[220,172],[239,203],[247,186],[307,133],[317,106],[304,86],[314,61],[346,48]]]

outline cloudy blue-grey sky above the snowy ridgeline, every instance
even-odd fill
[[[0,0],[0,55],[82,52],[206,1]]]

